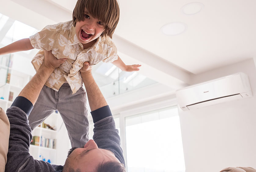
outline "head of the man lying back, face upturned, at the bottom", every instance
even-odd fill
[[[109,170],[125,172],[124,166],[114,153],[99,149],[93,140],[89,140],[83,148],[71,148],[63,168],[63,172],[107,172]]]

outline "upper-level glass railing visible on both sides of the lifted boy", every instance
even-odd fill
[[[37,32],[38,30],[31,26],[0,14],[0,47],[28,38]],[[30,61],[37,51],[29,50],[0,56],[0,87],[5,85],[6,82],[8,83],[8,70],[10,67],[25,74],[33,75],[34,69]],[[137,72],[121,71],[111,63],[100,62],[93,66],[92,74],[105,98],[156,83],[156,81]]]

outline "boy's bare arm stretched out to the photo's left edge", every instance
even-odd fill
[[[0,48],[0,55],[31,49],[34,49],[34,47],[31,45],[29,38],[25,38]]]

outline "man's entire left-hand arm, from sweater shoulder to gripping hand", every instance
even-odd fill
[[[9,149],[7,154],[6,172],[13,171],[54,171],[51,164],[34,160],[29,153],[32,138],[27,115],[31,112],[38,95],[55,67],[64,63],[65,59],[57,60],[51,52],[45,52],[45,60],[31,81],[23,88],[20,95],[7,109],[6,115],[10,122]]]

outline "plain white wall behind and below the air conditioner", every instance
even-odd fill
[[[256,69],[254,60],[199,74],[200,83],[229,74],[249,76],[252,98],[179,111],[186,172],[216,172],[225,167],[256,168]]]

